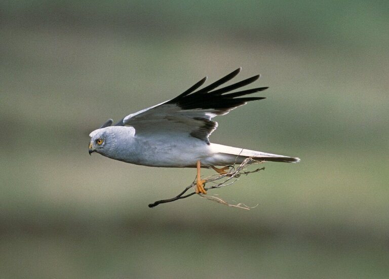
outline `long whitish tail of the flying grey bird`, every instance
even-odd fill
[[[214,155],[212,156],[212,158],[210,158],[210,161],[213,162],[209,162],[209,164],[213,166],[242,164],[243,161],[248,157],[252,157],[254,160],[258,160],[258,161],[286,162],[286,163],[300,162],[300,158],[296,158],[296,157],[265,153],[265,152],[226,146],[226,145],[221,145],[216,143],[211,143],[210,148],[214,152]]]

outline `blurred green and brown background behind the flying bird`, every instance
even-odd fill
[[[387,278],[389,2],[0,3],[2,278]],[[160,205],[193,169],[88,154],[109,117],[243,67],[211,141],[299,156]],[[212,174],[205,171],[205,175]]]

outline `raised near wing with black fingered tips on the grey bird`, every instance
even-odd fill
[[[244,105],[248,101],[264,99],[264,97],[237,97],[262,91],[267,87],[228,93],[253,83],[259,78],[259,75],[216,89],[234,78],[240,71],[241,68],[238,68],[213,84],[197,90],[205,83],[207,77],[204,77],[174,99],[129,114],[116,126],[132,126],[135,128],[136,134],[142,135],[190,135],[209,143],[209,135],[217,128],[217,123],[211,121],[212,117],[227,114],[230,110]]]

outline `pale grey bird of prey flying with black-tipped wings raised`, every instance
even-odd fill
[[[197,168],[197,193],[206,193],[200,168],[225,172],[228,165],[241,164],[252,157],[259,161],[297,163],[299,158],[210,143],[209,136],[217,128],[211,119],[249,101],[264,97],[246,95],[263,91],[267,87],[236,89],[255,82],[259,75],[241,82],[221,85],[234,78],[241,68],[218,81],[199,89],[206,81],[197,84],[177,97],[125,116],[114,126],[108,119],[89,136],[89,153],[97,152],[114,160],[150,167]],[[245,96],[243,98],[239,98]],[[216,168],[215,166],[224,166]]]

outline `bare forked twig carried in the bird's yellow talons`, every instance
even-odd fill
[[[204,188],[208,191],[210,189],[225,187],[225,186],[229,186],[231,184],[234,184],[235,182],[237,182],[239,180],[238,178],[242,174],[248,175],[248,174],[251,174],[251,173],[256,173],[256,172],[259,172],[261,170],[264,170],[265,168],[262,167],[262,168],[258,168],[256,170],[254,170],[254,171],[244,171],[244,169],[247,166],[249,166],[249,165],[261,164],[263,162],[264,161],[256,161],[253,158],[246,158],[246,160],[243,161],[243,163],[241,165],[239,165],[237,168],[235,168],[235,165],[234,166],[229,166],[230,169],[225,174],[214,174],[214,175],[211,175],[211,176],[207,177],[205,179],[205,183],[213,182],[213,183],[216,183],[216,185],[212,185],[212,186],[204,187]],[[220,182],[220,183],[219,182],[215,182],[215,181],[218,181],[220,179],[224,179],[224,180],[222,182]],[[152,204],[149,204],[148,207],[149,208],[153,208],[153,207],[158,206],[159,204],[165,204],[165,203],[174,202],[174,201],[180,200],[181,198],[186,198],[186,197],[189,197],[189,196],[191,196],[193,194],[196,194],[196,192],[191,192],[189,194],[184,195],[184,193],[186,193],[187,190],[189,190],[190,188],[195,187],[195,186],[196,186],[196,179],[189,186],[186,186],[186,188],[181,193],[179,193],[178,195],[176,195],[176,196],[174,196],[172,198],[167,198],[166,200],[156,201],[156,202],[154,202]],[[207,198],[207,200],[215,201],[217,203],[226,205],[228,207],[236,207],[236,208],[241,208],[241,209],[246,209],[246,210],[249,210],[249,209],[253,208],[253,207],[248,207],[248,206],[246,206],[245,204],[242,204],[242,203],[239,203],[237,205],[231,205],[231,204],[228,204],[227,202],[223,201],[221,198],[215,197],[215,196],[211,196],[211,195],[206,195],[206,194],[199,194],[199,195],[202,196],[203,198]]]

